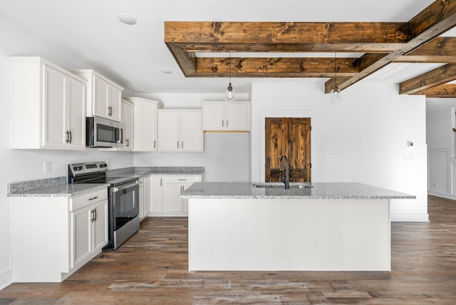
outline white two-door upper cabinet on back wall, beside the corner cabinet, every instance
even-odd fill
[[[158,151],[202,152],[202,110],[158,110]]]

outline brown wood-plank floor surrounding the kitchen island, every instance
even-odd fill
[[[0,304],[456,304],[456,201],[430,196],[429,213],[391,225],[392,272],[188,272],[187,219],[147,218],[63,283],[11,284]]]

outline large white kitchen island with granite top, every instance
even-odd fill
[[[361,183],[289,190],[194,183],[189,270],[390,271],[390,200],[415,196]]]

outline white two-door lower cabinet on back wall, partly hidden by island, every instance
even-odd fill
[[[152,176],[150,216],[188,216],[188,201],[179,195],[194,182],[201,182],[201,175]]]

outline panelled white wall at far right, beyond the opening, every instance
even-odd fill
[[[426,103],[426,138],[430,195],[456,199],[456,99],[429,99]]]

